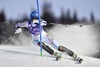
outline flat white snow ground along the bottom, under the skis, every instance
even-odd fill
[[[69,56],[56,61],[55,57],[43,53],[40,57],[33,47],[0,46],[0,67],[100,67],[100,60],[92,57],[81,56],[84,61],[78,64]]]

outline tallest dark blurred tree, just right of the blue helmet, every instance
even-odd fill
[[[47,24],[48,28],[53,26],[50,23],[55,23],[56,22],[54,14],[51,10],[51,5],[52,4],[48,3],[47,1],[45,1],[44,4],[43,4],[42,18],[48,22],[48,24]]]

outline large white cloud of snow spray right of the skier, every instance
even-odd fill
[[[97,52],[97,33],[94,25],[56,25],[49,31],[57,42],[81,55],[92,55]]]

